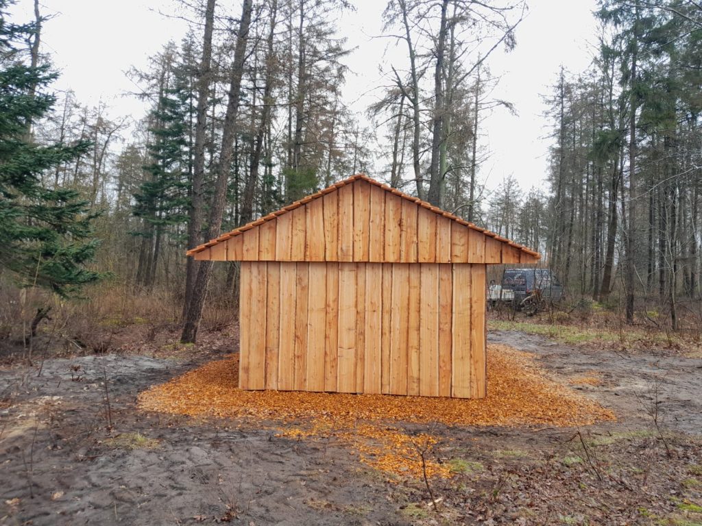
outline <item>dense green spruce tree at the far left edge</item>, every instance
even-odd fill
[[[8,22],[8,5],[0,0],[0,271],[9,271],[20,286],[39,285],[65,297],[100,278],[86,269],[98,248],[96,214],[76,191],[46,187],[42,174],[89,144],[32,141],[32,123],[55,102],[47,90],[56,74],[48,65],[25,64],[21,43],[37,29]]]

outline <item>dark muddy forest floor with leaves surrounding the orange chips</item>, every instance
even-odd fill
[[[138,410],[149,387],[232,353],[237,331],[175,337],[127,327],[110,354],[48,351],[32,366],[4,355],[0,525],[702,525],[702,360],[680,349],[491,331],[617,420],[405,424],[440,437],[427,453],[450,476],[425,481],[279,422]]]

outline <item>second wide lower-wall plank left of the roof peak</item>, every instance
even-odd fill
[[[322,202],[319,199],[317,201]],[[305,390],[324,391],[324,332],[326,331],[326,264],[324,262],[310,263],[309,283]]]

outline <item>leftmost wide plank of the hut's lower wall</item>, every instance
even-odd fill
[[[249,319],[249,386],[265,389],[266,263],[251,263],[251,318]]]

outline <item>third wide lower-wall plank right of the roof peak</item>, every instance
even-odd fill
[[[419,393],[439,396],[439,265],[420,264]]]

